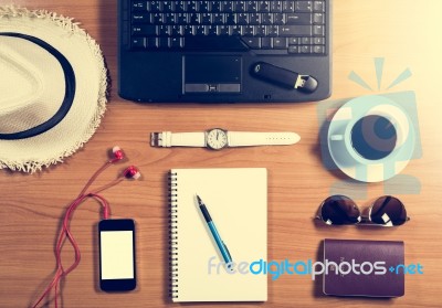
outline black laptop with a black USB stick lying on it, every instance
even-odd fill
[[[118,0],[118,93],[143,103],[330,96],[332,0]]]

